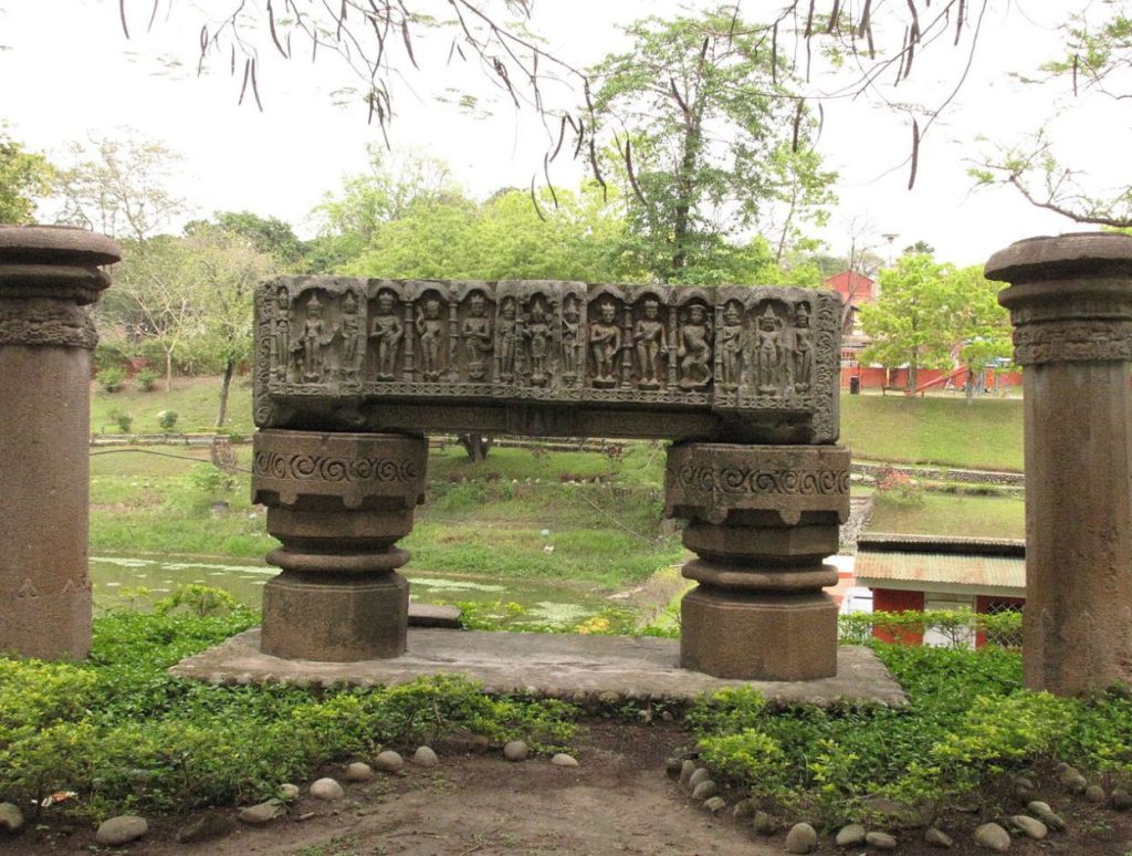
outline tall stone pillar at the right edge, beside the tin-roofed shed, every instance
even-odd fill
[[[1009,282],[1026,414],[1026,686],[1132,684],[1132,238],[1032,238]]]

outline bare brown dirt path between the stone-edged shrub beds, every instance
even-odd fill
[[[225,836],[178,844],[177,830],[192,818],[151,820],[149,833],[117,850],[132,856],[770,856],[783,853],[784,832],[756,837],[730,812],[711,816],[664,774],[664,759],[687,742],[675,726],[591,724],[577,742],[576,769],[547,759],[505,761],[498,752],[475,754],[439,746],[432,769],[408,764],[400,776],[346,785],[346,798],[327,804],[310,797],[266,827],[234,823]],[[342,776],[341,768],[323,771]],[[301,782],[300,782],[301,784]],[[306,790],[306,788],[305,788]],[[731,801],[734,802],[734,799]],[[1087,804],[1054,801],[1070,824],[1045,841],[1015,840],[1021,856],[1125,856],[1132,850],[1132,815]],[[234,812],[229,813],[234,816]],[[946,827],[952,853],[975,853],[970,828],[959,815]],[[29,824],[31,825],[31,824]],[[958,828],[957,828],[958,827]],[[898,833],[900,854],[938,854],[918,832]],[[93,830],[48,824],[0,839],[0,851],[52,856],[105,851]],[[851,853],[865,853],[857,848]],[[823,837],[817,853],[847,853]]]

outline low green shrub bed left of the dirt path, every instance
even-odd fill
[[[115,613],[96,619],[87,664],[0,659],[0,790],[25,805],[76,790],[62,810],[93,818],[177,812],[266,799],[319,764],[452,733],[554,751],[573,731],[569,705],[489,697],[458,677],[318,694],[166,674],[256,619]]]

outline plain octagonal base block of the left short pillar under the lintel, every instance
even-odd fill
[[[400,657],[408,616],[409,581],[401,574],[335,579],[284,572],[264,587],[261,650],[327,662]]]

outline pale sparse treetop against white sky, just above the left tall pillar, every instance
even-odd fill
[[[59,221],[132,240],[137,248],[187,211],[169,189],[181,156],[156,140],[100,137],[72,143],[58,173]]]

